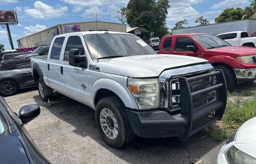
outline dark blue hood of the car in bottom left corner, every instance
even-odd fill
[[[8,135],[0,140],[0,163],[2,164],[28,164],[26,152],[18,138]]]

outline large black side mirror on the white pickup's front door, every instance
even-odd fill
[[[80,68],[87,68],[87,58],[86,55],[79,55],[79,49],[72,48],[69,50],[69,65]]]

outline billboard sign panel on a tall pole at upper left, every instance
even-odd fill
[[[18,24],[16,12],[13,10],[0,10],[0,24]]]

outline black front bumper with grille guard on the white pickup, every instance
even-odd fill
[[[191,82],[201,79],[205,82],[205,79],[213,79],[213,77],[216,77],[218,82],[211,87],[196,91],[190,89]],[[227,100],[226,81],[222,70],[196,77],[180,77],[179,81],[180,113],[162,108],[148,111],[126,109],[136,135],[142,138],[176,136],[186,141],[189,136],[222,118]],[[212,94],[216,97],[208,99]],[[200,103],[198,103],[199,99]]]

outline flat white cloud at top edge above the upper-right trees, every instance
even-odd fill
[[[249,4],[248,0],[224,0],[212,6],[213,9],[217,8],[243,8]]]

